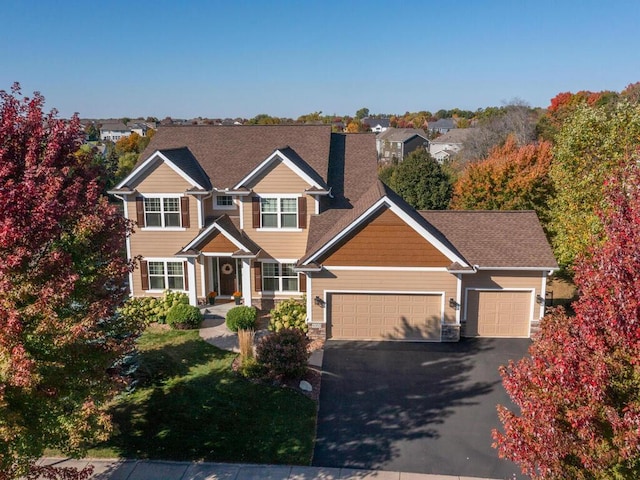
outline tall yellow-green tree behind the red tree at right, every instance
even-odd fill
[[[565,121],[556,142],[549,231],[558,263],[571,267],[601,230],[595,212],[605,179],[638,161],[640,105],[582,105]]]

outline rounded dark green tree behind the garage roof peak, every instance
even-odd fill
[[[451,179],[422,148],[398,165],[392,183],[389,186],[418,210],[444,210],[451,200]]]

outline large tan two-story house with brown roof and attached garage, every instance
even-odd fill
[[[330,126],[160,127],[110,193],[137,221],[132,294],[306,295],[313,337],[528,337],[557,268],[533,212],[418,212],[375,137]]]

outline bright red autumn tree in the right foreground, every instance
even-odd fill
[[[640,478],[640,169],[607,186],[605,242],[576,266],[575,317],[554,310],[530,358],[501,369],[502,457],[536,479]]]

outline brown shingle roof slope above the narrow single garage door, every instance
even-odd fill
[[[471,264],[481,268],[558,267],[533,211],[419,212]]]

